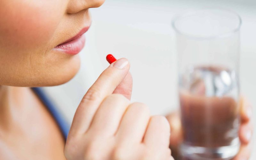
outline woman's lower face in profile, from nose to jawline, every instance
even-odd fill
[[[103,3],[0,0],[0,85],[50,86],[70,80],[80,67],[81,34],[91,24],[88,9]]]

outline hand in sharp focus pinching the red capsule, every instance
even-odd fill
[[[129,68],[117,60],[84,95],[65,145],[68,160],[173,160],[166,118],[150,117],[145,104],[128,100]]]

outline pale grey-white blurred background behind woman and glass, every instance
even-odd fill
[[[179,107],[171,20],[175,14],[204,7],[231,9],[241,16],[241,93],[256,107],[255,0],[106,0],[91,10],[92,27],[80,53],[79,73],[67,84],[45,91],[71,124],[83,95],[108,67],[105,57],[111,53],[131,63],[132,101],[146,103],[154,115],[166,115]],[[256,153],[252,153],[254,159]]]

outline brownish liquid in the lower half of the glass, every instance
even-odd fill
[[[180,93],[180,108],[185,144],[221,147],[237,138],[239,111],[233,98]]]

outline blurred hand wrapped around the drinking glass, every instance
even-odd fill
[[[241,141],[241,147],[239,153],[235,158],[233,158],[233,160],[248,160],[252,152],[252,107],[245,102],[244,98],[241,99],[240,105],[241,127],[239,130],[239,138]],[[177,111],[175,111],[168,115],[167,119],[170,123],[172,131],[172,135],[170,137],[172,156],[178,160],[181,159],[178,147],[182,141],[180,115]]]

